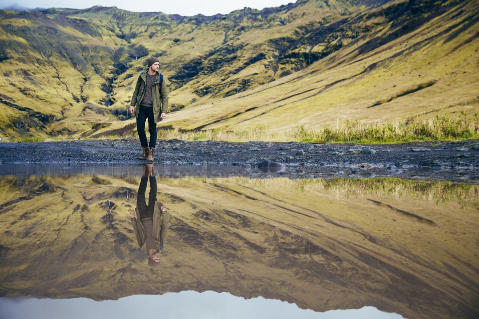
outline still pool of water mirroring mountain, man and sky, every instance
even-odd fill
[[[1,175],[0,318],[477,318],[478,191],[141,166]]]

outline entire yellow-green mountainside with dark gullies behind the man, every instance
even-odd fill
[[[116,7],[0,11],[0,137],[134,134],[146,57],[164,128],[321,130],[478,111],[477,1],[321,1],[183,17]]]

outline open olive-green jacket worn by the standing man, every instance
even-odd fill
[[[146,72],[148,69],[141,72],[136,81],[135,91],[131,97],[130,105],[134,106],[135,116],[138,116],[140,111],[140,103],[145,96],[146,90]],[[161,113],[166,113],[168,111],[168,90],[166,88],[166,77],[163,76],[163,81],[161,82],[160,88],[160,72],[156,72],[155,82],[151,86],[151,100],[153,102],[153,116],[155,118],[155,123],[160,122]]]

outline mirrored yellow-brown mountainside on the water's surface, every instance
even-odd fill
[[[0,295],[103,300],[214,290],[315,311],[479,311],[477,204],[369,192],[364,183],[353,196],[354,182],[346,192],[339,183],[280,178],[158,179],[171,226],[152,268],[127,221],[137,182],[3,177]]]

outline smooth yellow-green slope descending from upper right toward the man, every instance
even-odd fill
[[[164,124],[317,129],[338,119],[387,123],[441,111],[477,111],[478,11],[464,2],[405,34],[407,24],[391,20],[372,39],[358,38],[304,70],[215,101],[214,108],[175,114],[171,124]]]

